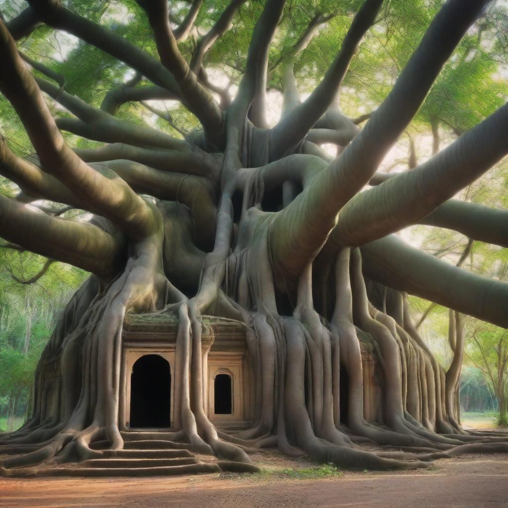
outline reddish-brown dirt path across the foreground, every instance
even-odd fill
[[[272,458],[271,465],[277,466]],[[287,465],[287,464],[282,464]],[[295,467],[301,464],[295,464]],[[321,480],[250,477],[0,479],[0,506],[16,508],[504,508],[508,455],[470,455],[432,470],[345,472]]]

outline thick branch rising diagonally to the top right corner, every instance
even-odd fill
[[[448,0],[365,128],[288,207],[277,213],[270,229],[270,244],[279,285],[291,287],[306,263],[320,251],[335,227],[338,212],[374,175],[417,112],[442,65],[487,3]]]

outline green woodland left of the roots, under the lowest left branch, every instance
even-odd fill
[[[22,423],[41,353],[63,307],[86,277],[82,270],[63,263],[53,263],[34,284],[20,284],[12,277],[30,278],[44,261],[31,252],[0,248],[0,417],[4,418],[0,428],[4,430],[9,417],[14,417],[12,429]]]

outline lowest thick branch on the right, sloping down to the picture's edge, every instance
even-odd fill
[[[361,247],[364,270],[391,288],[507,328],[508,284],[458,268],[396,236]]]

